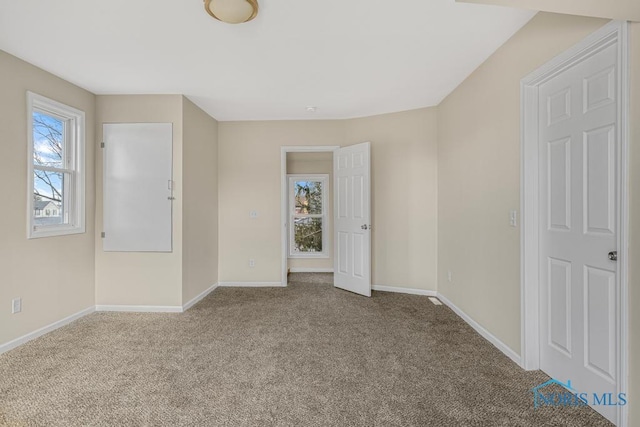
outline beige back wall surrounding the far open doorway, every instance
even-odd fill
[[[281,146],[370,141],[373,283],[435,290],[436,136],[433,108],[343,121],[220,123],[220,281],[281,281]]]

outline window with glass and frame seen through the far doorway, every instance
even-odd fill
[[[289,175],[289,257],[328,257],[328,175]]]

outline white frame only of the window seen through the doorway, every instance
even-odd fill
[[[327,214],[327,192],[329,191],[329,174],[288,174],[289,193],[289,258],[329,258],[329,215]],[[295,182],[318,181],[322,183],[322,214],[296,214],[295,213]],[[294,218],[322,218],[322,252],[295,252]]]

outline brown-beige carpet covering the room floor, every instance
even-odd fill
[[[446,306],[330,280],[220,288],[183,314],[84,317],[0,356],[0,424],[610,425],[588,407],[534,410],[530,389],[548,377]]]

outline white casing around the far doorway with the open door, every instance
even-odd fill
[[[284,145],[280,147],[280,239],[282,286],[287,286],[287,262],[289,258],[289,183],[287,180],[287,153],[332,153],[339,145]]]

